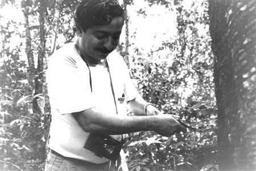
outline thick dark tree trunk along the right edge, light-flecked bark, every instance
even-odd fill
[[[210,0],[209,16],[219,168],[250,170],[255,159],[255,153],[250,154],[255,152],[250,145],[255,134],[247,135],[248,123],[255,125],[255,1]],[[255,127],[249,132],[255,133]]]

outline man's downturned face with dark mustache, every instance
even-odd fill
[[[118,17],[108,25],[94,26],[79,32],[80,50],[85,58],[95,62],[105,59],[117,48],[122,27],[123,19]]]

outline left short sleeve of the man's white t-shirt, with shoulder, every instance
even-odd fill
[[[95,106],[85,63],[71,56],[53,57],[46,76],[51,107],[60,114],[81,112]]]

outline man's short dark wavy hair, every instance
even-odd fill
[[[117,0],[83,0],[76,9],[76,29],[85,32],[96,25],[107,25],[116,17],[123,18],[123,15]]]

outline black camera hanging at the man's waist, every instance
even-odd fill
[[[90,133],[84,148],[95,153],[98,157],[105,157],[115,161],[119,156],[123,141],[112,136],[98,133]]]

